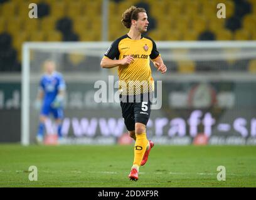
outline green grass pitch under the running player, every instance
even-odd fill
[[[256,187],[256,146],[155,145],[136,182],[128,179],[133,154],[132,145],[1,144],[0,187]],[[38,181],[29,181],[29,166]]]

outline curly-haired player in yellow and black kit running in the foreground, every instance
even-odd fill
[[[149,151],[154,146],[146,136],[154,92],[150,60],[161,73],[166,73],[167,68],[157,51],[156,43],[150,37],[142,35],[149,25],[146,10],[131,6],[122,14],[122,23],[130,29],[129,32],[112,42],[100,66],[118,67],[122,117],[129,135],[135,140],[134,162],[129,178],[137,181],[139,167],[146,163]]]

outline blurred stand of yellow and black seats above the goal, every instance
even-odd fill
[[[8,42],[4,44],[8,49],[7,57],[1,56],[0,71],[20,71],[21,45],[24,41],[100,41],[102,0],[33,2],[38,5],[38,19],[29,19],[29,1],[0,1],[0,40],[3,42],[8,37]],[[109,41],[127,32],[120,23],[120,15],[131,4],[146,8],[150,21],[148,34],[156,41],[256,39],[253,26],[256,23],[256,1],[221,2],[227,6],[226,19],[216,17],[218,1],[215,0],[110,0]],[[2,45],[0,51],[3,51]],[[9,59],[15,62],[10,67],[3,67]],[[196,69],[193,64],[191,66],[189,71]],[[248,69],[255,68],[251,66]]]

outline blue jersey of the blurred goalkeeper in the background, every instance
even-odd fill
[[[44,92],[43,105],[50,106],[55,100],[58,91],[65,90],[66,84],[60,73],[44,74],[40,80],[40,89]]]

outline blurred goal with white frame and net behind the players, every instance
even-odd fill
[[[33,144],[43,62],[51,59],[67,84],[63,144],[131,143],[116,101],[117,69],[102,69],[110,42],[23,44],[21,143]],[[256,42],[156,42],[166,74],[151,63],[155,101],[147,138],[158,144],[256,144]],[[106,93],[100,94],[99,91]],[[46,144],[56,129],[50,116]]]

